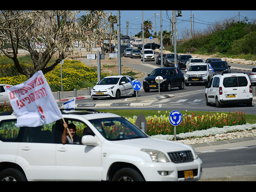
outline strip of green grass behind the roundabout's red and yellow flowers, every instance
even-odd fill
[[[166,110],[119,110],[119,109],[107,109],[107,110],[98,110],[100,112],[110,112],[114,114],[118,114],[122,117],[132,118],[133,116],[138,116],[139,114],[144,114],[145,117],[147,116],[154,116],[154,115],[164,115],[166,114]],[[171,111],[167,111],[169,115]],[[180,111],[181,114],[186,114],[186,111]],[[188,114],[194,114],[195,116],[202,116],[202,115],[210,115],[210,114],[217,114],[217,113],[225,113],[225,112],[204,112],[204,111],[188,111]],[[226,112],[229,114],[229,112]],[[246,114],[246,123],[254,124],[256,123],[256,115]]]

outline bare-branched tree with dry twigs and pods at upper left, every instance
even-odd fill
[[[14,61],[20,74],[31,77],[42,70],[51,71],[61,60],[74,53],[73,43],[84,41],[96,43],[104,34],[104,11],[94,11],[88,22],[79,25],[77,11],[70,10],[2,10],[0,11],[0,50]],[[102,29],[102,30],[100,30]],[[10,42],[12,52],[6,51],[4,43]],[[40,47],[36,43],[40,42]],[[18,61],[18,48],[27,50],[34,63],[33,68],[22,68]],[[53,55],[53,64],[47,65]]]

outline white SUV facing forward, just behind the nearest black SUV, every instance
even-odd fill
[[[185,74],[185,85],[190,83],[205,83],[208,84],[214,75],[210,64],[208,63],[193,63]]]

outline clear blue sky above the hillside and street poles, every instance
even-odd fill
[[[117,10],[105,11],[112,12],[112,15],[117,16]],[[153,26],[153,33],[160,31],[160,10],[143,10],[143,19],[150,20]],[[204,30],[208,25],[216,22],[234,18],[239,20],[248,18],[249,22],[256,19],[256,10],[182,10],[182,16],[177,19],[177,39],[182,38],[181,32],[185,29],[191,31],[190,15],[192,16],[192,30]],[[155,22],[155,14],[156,22]],[[193,23],[194,15],[194,23]],[[135,19],[137,18],[137,19]],[[170,31],[170,18],[172,19],[172,11],[162,11],[162,30]],[[120,10],[121,33],[126,34],[126,22],[129,22],[128,35],[134,36],[141,31],[142,10]],[[116,29],[116,28],[115,28]]]

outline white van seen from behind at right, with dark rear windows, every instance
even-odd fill
[[[206,105],[243,103],[252,106],[252,86],[248,75],[243,73],[229,73],[214,75],[205,86]]]

